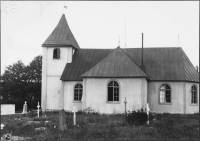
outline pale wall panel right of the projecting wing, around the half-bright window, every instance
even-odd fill
[[[159,89],[162,84],[169,84],[171,87],[171,104],[159,103]],[[152,112],[184,113],[184,82],[149,82],[147,96]]]

